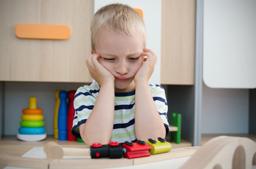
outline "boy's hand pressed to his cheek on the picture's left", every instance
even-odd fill
[[[109,81],[115,82],[115,77],[98,62],[100,54],[91,54],[86,60],[86,65],[91,77],[101,86]]]

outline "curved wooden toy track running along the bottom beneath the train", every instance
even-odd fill
[[[25,158],[11,154],[0,153],[0,164],[21,168],[115,168],[152,163],[184,156],[192,156],[198,147],[173,149],[165,154],[158,154],[144,158],[78,158],[78,159],[38,159]],[[75,148],[74,148],[75,149]],[[86,150],[85,150],[86,151]]]

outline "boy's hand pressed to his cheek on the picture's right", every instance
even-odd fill
[[[142,57],[147,56],[147,58],[144,58],[144,63],[141,66],[141,68],[138,70],[134,77],[135,83],[137,82],[146,82],[148,84],[149,78],[151,77],[153,70],[156,65],[157,56],[156,54],[151,51],[150,49],[144,49],[144,53],[142,54]]]

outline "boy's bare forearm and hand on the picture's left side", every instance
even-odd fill
[[[86,61],[93,79],[100,84],[100,92],[86,123],[79,130],[87,145],[94,142],[108,144],[112,134],[115,112],[115,77],[98,63],[98,54],[92,54]]]

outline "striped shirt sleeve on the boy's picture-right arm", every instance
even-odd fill
[[[163,124],[165,125],[165,136],[169,133],[169,123],[168,123],[168,104],[165,97],[165,90],[158,84],[150,84],[151,95],[153,97],[153,101],[156,105],[156,109],[163,120]]]

